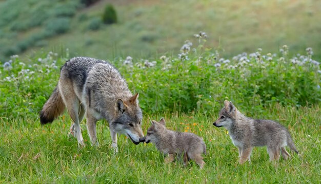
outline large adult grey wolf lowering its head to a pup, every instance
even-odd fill
[[[41,124],[51,123],[67,107],[73,121],[71,133],[84,145],[79,123],[86,114],[92,145],[98,146],[96,122],[109,122],[112,147],[117,152],[117,133],[128,136],[135,144],[144,134],[138,94],[133,95],[119,71],[108,62],[93,58],[72,58],[61,68],[61,75],[41,113]]]

